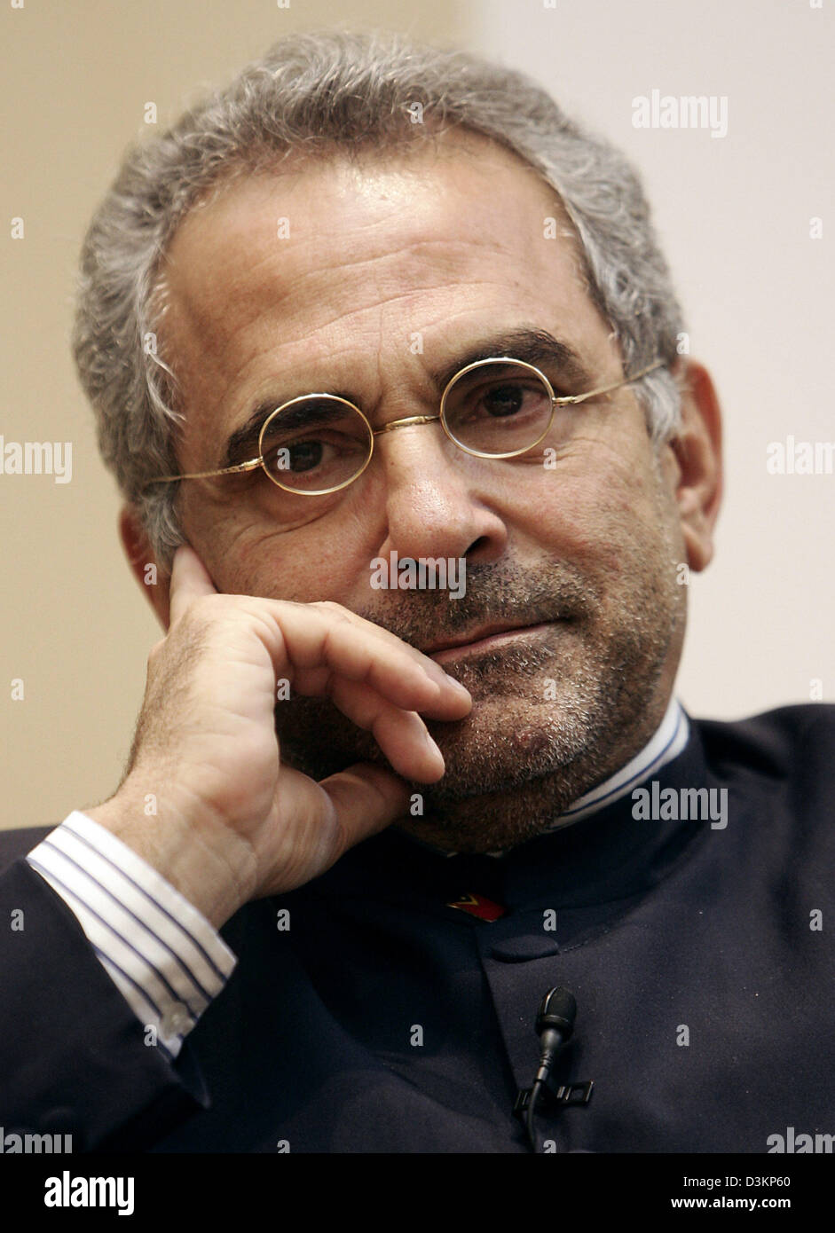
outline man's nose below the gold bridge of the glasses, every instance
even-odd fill
[[[501,462],[465,454],[439,419],[426,418],[380,433],[374,451],[385,483],[381,555],[466,557],[475,565],[503,554],[508,529],[493,499]]]

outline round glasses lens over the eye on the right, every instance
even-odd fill
[[[455,379],[443,416],[446,432],[465,450],[498,457],[523,454],[549,429],[551,392],[535,369],[490,360]]]

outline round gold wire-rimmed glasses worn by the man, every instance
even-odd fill
[[[664,361],[656,360],[587,393],[556,396],[545,374],[525,360],[512,356],[477,360],[449,381],[437,416],[408,416],[376,429],[359,407],[338,395],[301,395],[268,416],[258,438],[258,457],[216,471],[159,476],[149,483],[207,480],[261,467],[285,492],[323,497],[360,477],[374,455],[376,436],[437,422],[465,454],[482,459],[518,457],[548,436],[559,407],[619,390],[660,367]]]

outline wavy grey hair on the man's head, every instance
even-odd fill
[[[414,104],[423,123],[414,123]],[[627,371],[673,364],[681,309],[640,181],[520,73],[390,33],[294,35],[248,64],[168,132],[128,148],[86,233],[73,354],[97,420],[99,448],[134,504],[158,561],[183,543],[178,470],[184,420],[171,356],[157,345],[160,268],[178,223],[208,190],[289,155],[400,149],[446,128],[485,134],[556,190],[580,240],[588,292],[611,323]],[[678,425],[676,379],[636,386],[657,444]]]

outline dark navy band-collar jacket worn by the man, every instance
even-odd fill
[[[223,927],[238,967],[174,1064],[19,858],[46,831],[0,835],[0,1124],[74,1150],[527,1152],[513,1100],[564,985],[557,1076],[594,1090],[539,1116],[540,1147],[835,1133],[835,708],[691,723],[654,778],[725,788],[724,829],[636,820],[630,795],[501,858],[390,829]],[[466,894],[506,914],[448,906]]]

